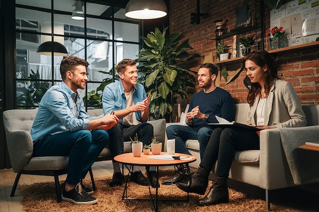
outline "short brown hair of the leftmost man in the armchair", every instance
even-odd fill
[[[65,80],[66,78],[66,72],[70,71],[73,73],[73,69],[75,66],[85,66],[85,68],[88,68],[89,63],[87,60],[79,58],[77,56],[64,56],[61,65],[60,65],[60,73],[62,80]]]

